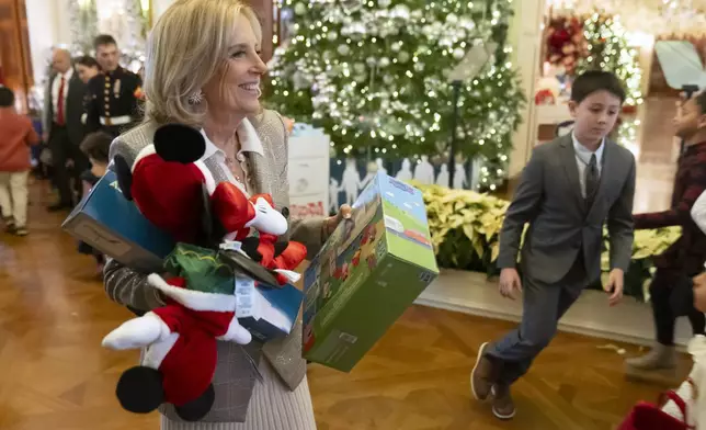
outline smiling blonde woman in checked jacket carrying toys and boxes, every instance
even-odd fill
[[[218,181],[230,181],[249,193],[271,193],[288,214],[287,134],[282,117],[260,106],[260,83],[266,66],[259,56],[260,24],[238,0],[178,0],[150,33],[145,65],[146,122],[121,135],[111,158],[128,161],[151,143],[166,123],[204,131],[203,158]],[[314,254],[340,219],[292,222],[293,240]],[[137,310],[162,305],[146,274],[109,261],[109,296]],[[266,344],[218,346],[214,377],[216,400],[201,422],[183,422],[171,406],[160,408],[164,430],[316,429],[301,360],[301,326],[287,338]]]

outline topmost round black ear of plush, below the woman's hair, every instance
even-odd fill
[[[196,128],[181,124],[167,124],[155,132],[155,151],[164,161],[187,165],[203,157],[206,140]]]

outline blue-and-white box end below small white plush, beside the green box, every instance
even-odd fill
[[[255,286],[249,278],[236,278],[236,315],[240,325],[262,342],[289,335],[294,327],[304,294],[294,285],[272,288]]]

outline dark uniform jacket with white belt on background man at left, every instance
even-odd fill
[[[141,121],[144,93],[138,75],[118,66],[91,78],[88,87],[86,126],[89,132],[100,129],[117,136]]]

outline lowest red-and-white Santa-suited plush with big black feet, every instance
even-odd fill
[[[148,282],[168,304],[124,322],[103,339],[110,349],[145,348],[140,365],[121,375],[117,398],[136,414],[169,403],[183,420],[197,421],[215,399],[216,342],[247,344],[252,337],[236,317],[235,291],[198,291],[187,285],[186,276],[166,281],[150,274]],[[235,282],[229,283],[235,290]]]

